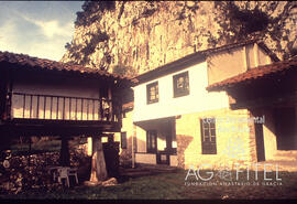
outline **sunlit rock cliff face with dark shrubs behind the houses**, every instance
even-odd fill
[[[255,34],[279,58],[296,54],[296,2],[87,1],[82,10],[63,62],[142,74]]]

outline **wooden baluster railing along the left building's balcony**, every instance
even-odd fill
[[[10,93],[10,118],[119,121],[119,107],[107,98]]]

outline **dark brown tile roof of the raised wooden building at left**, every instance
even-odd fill
[[[37,57],[29,56],[25,54],[15,54],[15,53],[10,53],[10,52],[0,51],[0,63],[9,63],[9,64],[14,64],[14,65],[20,65],[20,66],[36,67],[41,69],[98,74],[100,76],[110,76],[110,77],[114,77],[119,79],[129,79],[128,77],[122,77],[117,74],[110,74],[105,71],[89,68],[81,65],[62,63],[62,62],[56,62],[56,61],[51,61],[51,60],[45,60],[45,58],[37,58]]]

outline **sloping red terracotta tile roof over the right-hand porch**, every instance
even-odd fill
[[[268,65],[257,66],[245,73],[211,84],[207,87],[207,90],[222,90],[223,88],[230,87],[238,83],[261,78],[275,73],[286,72],[292,68],[297,68],[297,56],[287,61],[280,61]]]

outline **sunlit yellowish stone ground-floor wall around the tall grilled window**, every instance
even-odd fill
[[[200,119],[215,117],[224,118],[223,122],[216,121],[217,154],[201,153]],[[228,121],[226,118],[249,118],[246,109],[230,110],[228,108],[204,112],[183,115],[176,119],[176,138],[178,165],[184,169],[211,164],[212,169],[220,165],[233,168],[235,163],[242,165],[256,161],[255,139],[252,125],[249,122]],[[243,131],[243,132],[237,132]],[[246,131],[246,132],[244,132]]]

